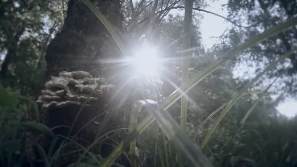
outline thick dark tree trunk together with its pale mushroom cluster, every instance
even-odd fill
[[[116,29],[122,30],[120,0],[92,2]],[[65,127],[57,128],[54,132],[72,136],[99,114],[106,110],[112,112],[109,88],[113,87],[111,83],[118,84],[118,80],[111,79],[118,69],[114,64],[101,61],[116,58],[121,58],[121,52],[106,27],[81,0],[69,0],[64,25],[46,50],[46,84],[39,98],[39,102],[42,102],[42,121],[50,127],[67,125],[70,132]],[[100,125],[92,122],[85,126],[80,132],[83,141],[78,142],[87,146],[103,132],[121,124],[108,122],[104,126],[107,128],[100,132],[98,129],[103,128],[101,121],[104,117],[96,119]],[[112,147],[101,150],[103,152],[100,154],[107,156]]]

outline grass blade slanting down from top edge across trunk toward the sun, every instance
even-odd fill
[[[95,16],[102,22],[102,24],[106,27],[114,41],[119,46],[120,50],[122,51],[123,55],[127,55],[127,50],[125,44],[118,33],[117,29],[107,21],[106,17],[100,12],[98,8],[90,1],[90,0],[82,0],[83,3],[95,14]]]

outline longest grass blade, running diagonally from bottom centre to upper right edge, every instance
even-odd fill
[[[219,59],[209,65],[208,67],[204,68],[201,72],[199,72],[196,76],[194,76],[191,80],[189,80],[186,84],[179,87],[173,93],[167,97],[163,103],[161,104],[161,108],[166,110],[168,109],[174,102],[176,102],[184,93],[188,92],[191,88],[193,88],[196,84],[201,82],[204,78],[206,78],[209,74],[215,71],[221,64],[225,63],[229,59],[235,57],[245,49],[255,45],[257,42],[261,42],[267,38],[270,38],[282,31],[285,31],[289,27],[296,25],[297,19],[290,19],[284,23],[281,23],[270,30],[263,32],[262,34],[257,35],[256,37],[244,42],[240,46],[234,48],[231,51],[226,52],[223,55],[222,59]],[[136,131],[133,133],[128,134],[126,139],[120,143],[120,145],[110,154],[109,157],[106,158],[102,167],[109,167],[112,162],[116,160],[116,158],[121,155],[121,153],[125,150],[126,145],[128,145],[129,141],[133,140],[135,135],[142,133],[150,124],[154,122],[154,117],[149,115],[146,117],[139,125],[137,125]]]

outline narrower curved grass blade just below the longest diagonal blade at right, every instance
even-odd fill
[[[212,125],[211,129],[209,130],[209,132],[207,133],[205,139],[202,142],[202,148],[204,148],[206,146],[206,144],[208,143],[209,139],[212,136],[212,133],[214,132],[215,128],[217,127],[217,125],[221,122],[221,120],[223,119],[223,117],[228,113],[228,111],[231,109],[231,107],[233,106],[233,104],[235,104],[237,102],[238,99],[241,98],[241,96],[243,95],[243,93],[252,85],[254,84],[259,78],[261,78],[266,72],[268,72],[269,70],[273,69],[274,67],[276,67],[277,63],[282,62],[285,58],[287,58],[288,56],[290,56],[292,53],[294,53],[297,50],[297,48],[293,48],[292,50],[288,51],[287,53],[285,53],[284,55],[282,55],[279,60],[275,61],[274,63],[270,64],[268,67],[265,68],[264,71],[262,71],[261,73],[259,73],[249,84],[245,85],[236,95],[235,97],[227,104],[227,106],[224,108],[224,110],[221,112],[221,114],[219,115],[219,117],[216,119],[216,121],[214,122],[214,124]]]

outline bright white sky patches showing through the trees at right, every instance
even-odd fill
[[[214,2],[209,2],[210,6],[208,6],[205,10],[227,17],[228,11],[226,9],[222,10],[221,6],[222,4],[227,3],[227,1],[228,0],[215,0]],[[213,44],[217,43],[217,39],[212,37],[218,37],[222,35],[222,33],[227,28],[231,28],[230,22],[226,22],[224,19],[212,14],[205,13],[204,19],[201,21],[202,42],[204,43],[205,47],[210,48]],[[235,77],[241,77],[244,72],[251,71],[250,68],[247,68],[247,66],[244,64],[241,64],[237,69],[238,71],[234,72]],[[281,114],[284,114],[287,117],[294,117],[297,115],[297,99],[287,98],[276,108]]]

